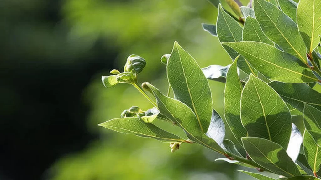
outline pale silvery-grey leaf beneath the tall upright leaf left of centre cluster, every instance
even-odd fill
[[[225,125],[221,116],[213,110],[210,126],[207,129],[206,135],[216,141],[219,145],[225,137]]]

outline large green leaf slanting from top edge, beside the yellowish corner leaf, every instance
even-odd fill
[[[254,0],[254,12],[264,34],[282,49],[307,62],[306,47],[297,25],[278,7],[265,1]]]

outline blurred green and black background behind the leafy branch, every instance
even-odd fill
[[[134,87],[100,81],[130,54],[147,61],[139,82],[163,92],[160,57],[175,40],[201,67],[231,63],[202,29],[217,17],[206,0],[0,0],[0,14],[0,179],[252,179],[199,145],[171,153],[168,143],[97,126],[131,106],[152,107]],[[224,84],[210,86],[223,116]]]

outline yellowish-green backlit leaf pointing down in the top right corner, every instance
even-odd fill
[[[298,27],[309,52],[320,43],[321,34],[321,1],[300,0],[298,4]]]

